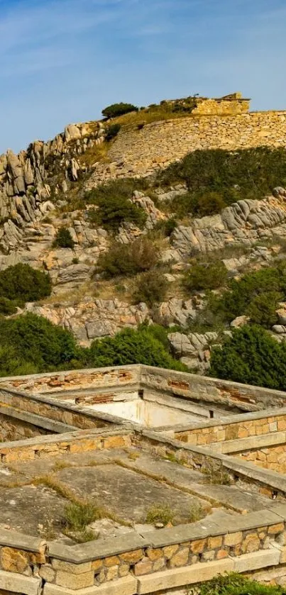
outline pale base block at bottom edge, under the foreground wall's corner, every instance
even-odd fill
[[[135,595],[136,593],[137,580],[131,576],[78,591],[50,583],[46,583],[43,589],[43,595]]]

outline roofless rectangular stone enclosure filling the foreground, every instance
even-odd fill
[[[286,394],[134,365],[0,380],[0,592],[286,584]]]

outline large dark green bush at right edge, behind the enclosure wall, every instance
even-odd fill
[[[286,345],[259,326],[234,329],[211,351],[210,376],[269,389],[286,389]]]

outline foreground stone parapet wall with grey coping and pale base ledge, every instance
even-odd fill
[[[141,595],[286,562],[286,506],[229,521],[129,533],[72,547],[3,530],[0,589],[26,595]]]

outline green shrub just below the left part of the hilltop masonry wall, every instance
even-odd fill
[[[98,207],[89,209],[89,221],[109,231],[117,231],[125,221],[142,228],[147,215],[130,200],[135,187],[136,184],[128,180],[116,180],[89,191],[85,195],[87,203]]]

